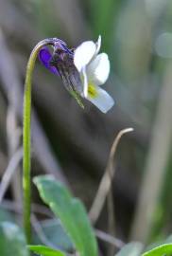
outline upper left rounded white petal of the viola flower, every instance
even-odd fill
[[[95,55],[96,45],[93,41],[86,41],[77,47],[74,53],[74,64],[77,67],[78,72],[82,67],[89,64]]]

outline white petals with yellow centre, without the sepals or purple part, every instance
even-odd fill
[[[112,97],[99,85],[105,83],[110,73],[110,61],[106,53],[98,54],[101,37],[96,43],[87,41],[77,47],[74,53],[74,64],[83,84],[83,97],[91,101],[103,113],[112,108]]]

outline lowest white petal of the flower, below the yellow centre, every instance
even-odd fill
[[[96,97],[90,97],[88,95],[87,100],[91,101],[99,110],[103,113],[107,113],[113,106],[114,101],[112,97],[103,89],[95,87],[97,90]]]

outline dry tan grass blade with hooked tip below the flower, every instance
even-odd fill
[[[121,137],[129,132],[132,132],[133,129],[132,128],[127,128],[124,130],[121,130],[117,137],[115,137],[113,143],[112,143],[112,149],[110,152],[110,156],[109,156],[109,160],[108,160],[108,164],[107,164],[107,168],[105,170],[105,174],[103,175],[101,181],[100,181],[100,185],[98,187],[98,191],[96,192],[95,195],[95,200],[94,203],[92,205],[92,208],[89,212],[90,218],[92,220],[92,222],[95,224],[96,220],[99,217],[99,214],[103,208],[103,205],[105,203],[105,199],[107,197],[108,192],[111,189],[111,185],[112,185],[112,178],[114,176],[114,164],[113,164],[113,158],[118,146],[118,143],[121,139]]]

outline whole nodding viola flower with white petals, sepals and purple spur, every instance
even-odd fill
[[[76,49],[69,49],[60,39],[53,39],[53,52],[43,47],[39,52],[41,63],[52,73],[59,75],[66,89],[82,105],[85,98],[103,113],[114,103],[112,97],[99,85],[105,83],[110,73],[110,61],[106,53],[98,54],[101,37],[96,43],[86,41]]]

